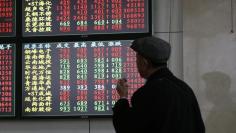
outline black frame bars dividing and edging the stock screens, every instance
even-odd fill
[[[15,43],[15,116],[1,117],[1,119],[72,119],[72,118],[111,118],[112,115],[93,115],[93,116],[23,116],[22,114],[22,48],[23,43],[47,43],[47,42],[75,42],[75,41],[97,41],[97,40],[134,40],[136,38],[152,35],[152,0],[148,0],[148,32],[145,33],[114,33],[114,34],[83,34],[83,35],[60,35],[60,36],[23,36],[23,14],[22,1],[15,0],[15,35],[0,36],[0,43]],[[19,86],[16,86],[19,85]]]

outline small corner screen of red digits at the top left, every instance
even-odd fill
[[[15,0],[0,0],[0,36],[15,35]]]

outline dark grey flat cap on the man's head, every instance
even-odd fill
[[[130,46],[144,58],[151,60],[153,63],[166,63],[170,57],[170,44],[157,37],[138,38]]]

